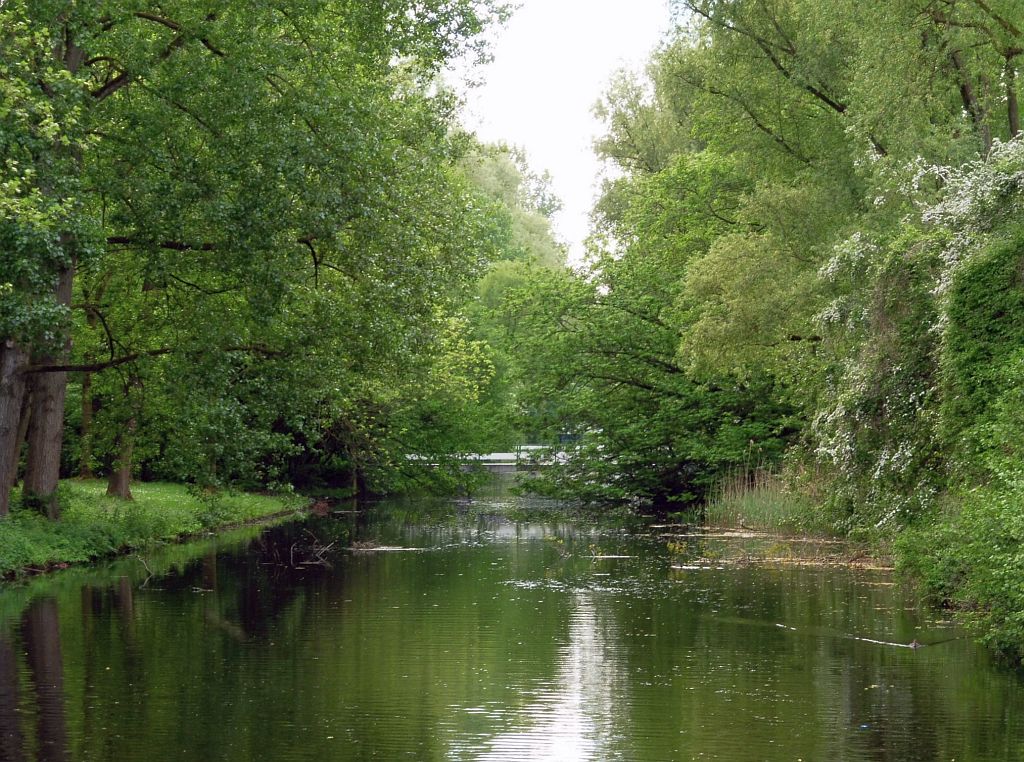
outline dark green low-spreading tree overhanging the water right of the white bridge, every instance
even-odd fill
[[[778,458],[788,410],[771,380],[697,379],[675,361],[672,292],[649,260],[605,260],[592,282],[537,279],[516,305],[528,384],[520,404],[564,451],[531,489],[665,507],[702,497],[722,469]]]

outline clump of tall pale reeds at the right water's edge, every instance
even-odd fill
[[[791,489],[779,474],[741,471],[721,482],[705,507],[711,526],[801,535],[835,534],[815,502]]]

